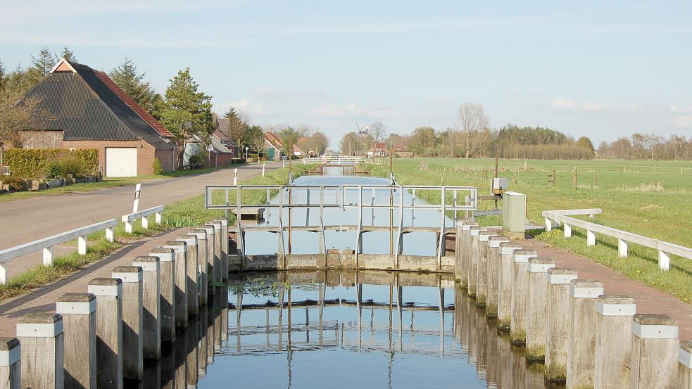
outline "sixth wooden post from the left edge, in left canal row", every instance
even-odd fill
[[[134,257],[132,266],[141,267],[142,331],[144,359],[161,357],[161,262],[158,257]]]

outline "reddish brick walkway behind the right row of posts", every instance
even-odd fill
[[[580,279],[596,279],[603,283],[605,293],[628,295],[636,300],[637,313],[667,314],[678,320],[679,338],[692,339],[692,305],[672,295],[638,283],[602,264],[579,257],[559,248],[551,248],[538,239],[529,239],[524,245],[536,250],[541,257],[550,257],[559,267],[572,267]]]

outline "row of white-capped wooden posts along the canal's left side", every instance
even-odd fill
[[[139,380],[228,278],[228,225],[213,220],[27,314],[0,338],[0,388],[120,389]]]

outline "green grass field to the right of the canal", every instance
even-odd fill
[[[574,168],[578,187],[572,189]],[[510,190],[527,195],[527,216],[543,224],[544,210],[602,208],[595,222],[609,227],[692,247],[692,162],[622,160],[500,160],[499,177],[510,180]],[[389,166],[369,167],[385,177]],[[394,175],[401,184],[472,185],[479,195],[488,194],[494,177],[494,159],[416,158],[395,159]],[[555,170],[556,184],[550,176]],[[491,208],[492,201],[482,204]],[[481,224],[499,224],[497,217],[479,218]],[[630,245],[632,255],[617,258],[617,242],[598,237],[595,247],[586,247],[584,231],[574,229],[574,238],[562,231],[536,237],[566,248],[633,279],[692,302],[692,261],[672,257],[669,272],[658,270],[654,250]]]

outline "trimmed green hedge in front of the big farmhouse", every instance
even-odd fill
[[[92,148],[75,151],[63,148],[23,149],[11,148],[5,151],[4,163],[10,167],[14,177],[23,179],[42,179],[50,162],[57,162],[65,156],[75,156],[82,162],[84,175],[99,172],[99,151]]]

